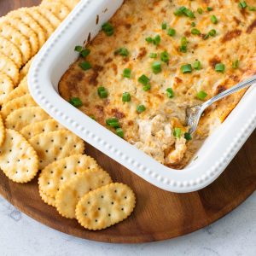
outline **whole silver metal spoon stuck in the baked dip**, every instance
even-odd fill
[[[224,90],[217,96],[212,97],[212,99],[208,100],[207,102],[202,103],[201,105],[196,105],[194,107],[190,107],[186,109],[186,123],[190,126],[189,133],[193,134],[197,128],[199,120],[201,119],[202,113],[211,106],[214,102],[218,102],[219,100],[223,99],[225,96],[229,96],[230,94],[235,93],[242,88],[247,86],[253,85],[252,83],[256,82],[256,75],[251,77],[250,79],[244,80],[236,86],[231,87],[228,90]],[[254,84],[255,85],[255,84]]]

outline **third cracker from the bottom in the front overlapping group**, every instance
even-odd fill
[[[92,157],[86,154],[74,154],[57,160],[46,166],[38,178],[39,188],[46,195],[55,197],[61,185],[84,170],[98,169],[99,166]]]

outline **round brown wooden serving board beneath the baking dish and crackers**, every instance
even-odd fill
[[[0,16],[11,9],[38,3],[0,0]],[[107,230],[84,230],[75,220],[62,218],[54,207],[44,204],[38,194],[37,178],[31,183],[17,184],[0,172],[0,194],[20,211],[55,230],[95,241],[130,243],[160,241],[199,230],[233,210],[256,189],[256,131],[218,180],[206,189],[188,194],[157,189],[90,145],[86,153],[95,157],[114,181],[134,189],[137,207],[124,222]]]

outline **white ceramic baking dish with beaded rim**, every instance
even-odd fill
[[[94,38],[102,23],[109,20],[122,3],[121,0],[81,1],[33,61],[28,77],[31,94],[54,119],[149,183],[177,193],[202,189],[224,172],[255,129],[255,86],[247,90],[224,124],[207,138],[189,166],[180,171],[161,165],[117,137],[73,108],[58,93],[62,74],[78,57],[74,46],[86,43],[89,35]]]

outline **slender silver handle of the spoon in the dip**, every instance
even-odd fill
[[[208,100],[207,102],[204,102],[201,107],[203,109],[208,108],[210,105],[212,105],[212,103],[214,102],[218,102],[219,100],[223,99],[226,96],[229,96],[230,94],[235,93],[238,90],[241,90],[249,85],[252,85],[253,83],[256,83],[256,75],[254,75],[253,77],[251,77],[250,79],[246,79],[244,81],[241,81],[239,84],[236,84],[235,86],[232,86],[230,89],[228,90],[224,90],[223,92],[221,92],[220,94],[218,94],[217,96],[212,97],[212,99]]]

